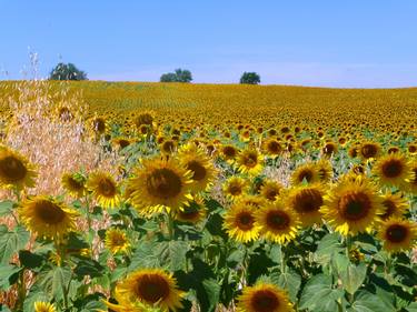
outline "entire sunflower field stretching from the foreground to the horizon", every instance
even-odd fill
[[[0,111],[0,311],[417,311],[417,89],[34,80]]]

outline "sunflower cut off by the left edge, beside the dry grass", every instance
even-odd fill
[[[32,164],[18,152],[0,147],[0,187],[33,188],[38,173]]]

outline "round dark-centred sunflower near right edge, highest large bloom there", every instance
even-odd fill
[[[375,163],[374,174],[383,185],[400,188],[411,175],[407,159],[400,153],[387,154]]]

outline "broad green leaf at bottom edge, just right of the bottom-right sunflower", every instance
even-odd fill
[[[312,312],[339,311],[338,302],[341,302],[342,296],[342,290],[332,288],[331,276],[318,274],[305,285],[299,309]]]

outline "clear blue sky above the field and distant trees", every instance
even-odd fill
[[[28,47],[46,77],[60,60],[89,79],[195,82],[257,71],[265,84],[417,85],[415,0],[0,0],[0,79]]]

